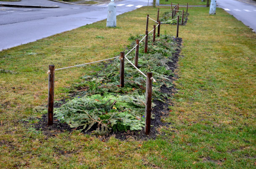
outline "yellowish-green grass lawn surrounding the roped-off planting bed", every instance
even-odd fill
[[[161,9],[167,9],[160,7]],[[169,7],[168,7],[169,9]],[[182,8],[181,8],[182,10]],[[143,7],[106,20],[0,52],[0,168],[255,168],[256,164],[256,34],[224,10],[189,8],[169,117],[156,140],[100,141],[78,131],[44,135],[28,124],[46,105],[48,65],[56,68],[118,55],[131,35],[145,31]],[[149,21],[149,28],[153,22]],[[125,26],[123,26],[125,25]],[[151,30],[151,29],[149,29]],[[176,25],[161,25],[175,35]],[[104,38],[96,38],[102,36]],[[92,67],[55,73],[55,99]]]

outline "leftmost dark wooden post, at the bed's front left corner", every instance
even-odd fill
[[[53,112],[54,112],[54,72],[55,66],[49,65],[48,76],[48,114],[47,125],[53,125]]]

